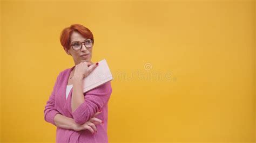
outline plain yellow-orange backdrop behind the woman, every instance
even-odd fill
[[[55,142],[44,106],[74,64],[59,34],[83,24],[114,76],[109,142],[255,142],[255,7],[1,1],[1,141]]]

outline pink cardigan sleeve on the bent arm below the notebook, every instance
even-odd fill
[[[77,124],[84,124],[87,120],[91,119],[92,116],[109,101],[111,93],[112,88],[110,81],[85,93],[84,102],[72,112],[75,122]]]

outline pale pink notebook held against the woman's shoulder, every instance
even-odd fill
[[[113,80],[113,76],[105,59],[83,80],[83,92],[90,91],[100,85]]]

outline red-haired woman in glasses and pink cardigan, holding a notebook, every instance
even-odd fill
[[[44,119],[57,126],[56,142],[108,142],[107,103],[111,83],[83,93],[83,78],[100,66],[93,63],[94,39],[83,25],[64,28],[60,43],[75,66],[61,71],[44,109]]]

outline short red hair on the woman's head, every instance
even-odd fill
[[[89,28],[86,28],[85,26],[80,24],[72,24],[69,27],[64,28],[62,33],[60,33],[60,44],[62,44],[64,48],[70,48],[70,37],[74,31],[80,33],[86,39],[91,39],[94,43],[93,34],[89,30]]]

